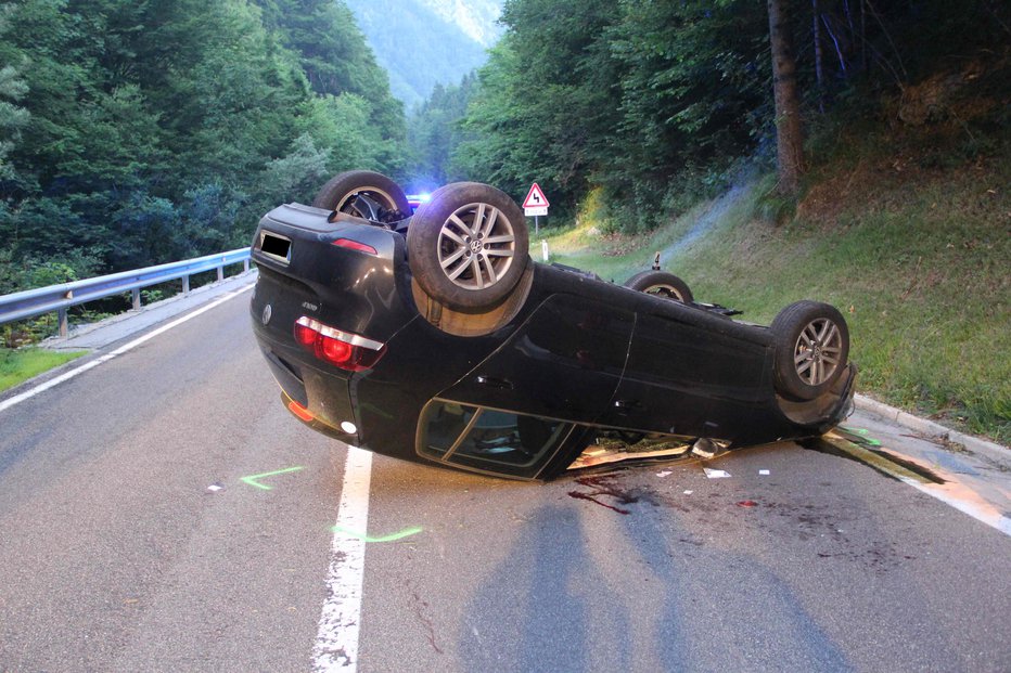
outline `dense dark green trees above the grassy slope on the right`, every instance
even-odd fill
[[[998,0],[779,3],[808,130],[879,109],[937,70],[999,57],[1011,38]],[[521,197],[537,180],[562,216],[602,189],[625,213],[619,225],[640,229],[726,186],[739,157],[775,155],[765,3],[508,0],[501,21],[447,177]],[[415,125],[445,125],[457,106],[440,92]]]

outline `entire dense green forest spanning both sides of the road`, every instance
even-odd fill
[[[1007,2],[772,5],[808,147],[939,72],[910,115],[973,79],[1004,104],[964,120],[968,151],[1008,128]],[[509,0],[500,21],[487,65],[408,115],[340,0],[0,2],[0,294],[247,245],[350,168],[537,180],[553,222],[599,199],[648,231],[776,161],[766,3]]]

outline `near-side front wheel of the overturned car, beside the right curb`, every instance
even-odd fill
[[[769,329],[775,342],[776,389],[784,398],[814,400],[829,390],[846,367],[849,327],[833,306],[791,303]]]

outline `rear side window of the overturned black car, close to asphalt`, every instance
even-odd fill
[[[418,452],[481,471],[534,477],[573,424],[434,400],[422,414]]]

